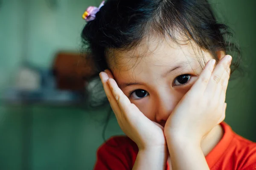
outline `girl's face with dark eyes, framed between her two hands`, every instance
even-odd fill
[[[194,84],[207,51],[195,54],[192,46],[171,40],[151,40],[131,51],[115,51],[109,62],[119,88],[151,121],[164,127],[173,109]]]

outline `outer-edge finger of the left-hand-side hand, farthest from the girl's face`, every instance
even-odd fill
[[[108,74],[106,74],[105,72],[101,72],[99,74],[99,77],[102,80],[102,85],[103,85],[105,94],[106,94],[106,96],[108,98],[108,101],[109,101],[109,103],[111,105],[111,108],[112,108],[113,112],[115,113],[116,118],[118,119],[119,118],[119,114],[120,114],[120,108],[117,105],[116,100],[114,99],[114,96],[112,94],[112,91],[111,91],[111,89],[110,89],[110,87],[108,85],[108,79],[109,79]]]

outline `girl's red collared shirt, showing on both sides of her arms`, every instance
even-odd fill
[[[221,123],[224,136],[205,157],[211,170],[256,170],[256,143],[233,132]],[[137,145],[127,136],[115,136],[97,151],[94,170],[132,170],[138,153]],[[166,163],[166,170],[169,165]]]

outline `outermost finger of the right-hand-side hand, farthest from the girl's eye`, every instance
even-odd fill
[[[219,88],[218,85],[221,85],[221,83],[224,82],[225,72],[229,69],[229,63],[231,61],[232,57],[230,55],[226,55],[221,59],[221,61],[216,65],[214,70],[212,71],[212,76],[209,80],[209,83],[206,88],[206,92],[209,92],[212,94],[212,92],[216,93],[216,89]],[[218,91],[217,94],[219,96],[221,91]]]

